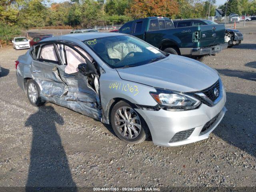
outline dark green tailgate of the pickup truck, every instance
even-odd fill
[[[204,25],[200,26],[201,40],[200,47],[223,44],[225,38],[224,25]]]

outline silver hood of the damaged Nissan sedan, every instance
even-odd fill
[[[116,70],[123,80],[179,92],[204,90],[219,78],[216,70],[207,65],[176,55],[151,64]]]

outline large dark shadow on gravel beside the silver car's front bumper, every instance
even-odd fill
[[[213,134],[256,157],[256,96],[227,92],[226,112]]]

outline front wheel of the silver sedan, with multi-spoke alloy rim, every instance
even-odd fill
[[[114,105],[110,114],[111,126],[120,140],[138,144],[149,136],[146,122],[130,104],[120,101]]]

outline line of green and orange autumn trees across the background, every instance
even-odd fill
[[[123,24],[147,16],[207,18],[210,0],[1,0],[0,30],[7,26],[35,28],[70,26],[92,28]],[[211,0],[210,16],[215,14]],[[225,9],[225,4],[220,6]],[[227,14],[256,14],[256,0],[229,0]],[[2,26],[2,27],[1,27]],[[1,31],[0,31],[1,32]]]

